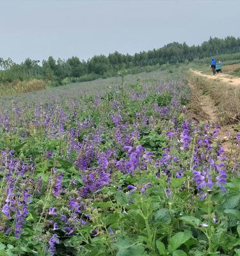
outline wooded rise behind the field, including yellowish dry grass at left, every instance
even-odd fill
[[[173,42],[159,49],[136,52],[134,55],[113,52],[108,56],[93,56],[87,61],[72,56],[67,60],[30,60],[14,63],[0,58],[0,95],[42,90],[46,86],[59,86],[71,82],[92,81],[117,76],[119,72],[136,74],[166,68],[170,64],[189,61],[209,62],[212,56],[222,60],[240,61],[240,38],[209,38],[201,45],[189,46]],[[205,62],[203,62],[205,61]]]

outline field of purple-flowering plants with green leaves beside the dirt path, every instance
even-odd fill
[[[240,134],[144,76],[1,107],[0,255],[240,255]]]

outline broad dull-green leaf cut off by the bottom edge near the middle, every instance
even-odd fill
[[[144,247],[140,244],[131,243],[127,237],[118,238],[116,243],[118,252],[116,256],[145,256]]]

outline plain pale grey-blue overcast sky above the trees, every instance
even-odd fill
[[[240,36],[239,0],[0,0],[0,58],[20,63]]]

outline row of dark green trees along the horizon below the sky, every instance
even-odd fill
[[[97,77],[115,76],[119,70],[135,67],[163,65],[165,63],[183,63],[219,54],[233,54],[240,52],[240,38],[209,38],[201,45],[189,46],[186,43],[173,42],[159,49],[130,54],[120,52],[110,53],[108,56],[99,55],[87,61],[73,56],[67,60],[54,60],[51,56],[47,60],[30,60],[17,64],[10,58],[0,58],[0,82],[10,83],[19,79],[24,81],[30,78],[45,79],[61,84],[66,77],[82,77],[91,80]]]

